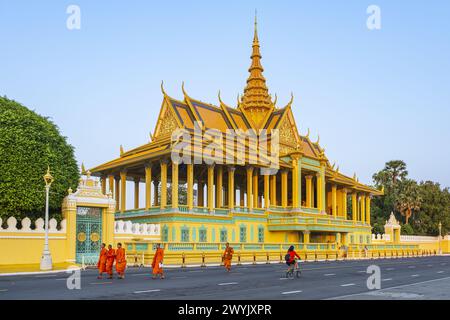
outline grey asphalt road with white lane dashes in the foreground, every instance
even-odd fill
[[[382,290],[369,292],[366,271],[372,264],[381,268]],[[67,289],[65,273],[8,276],[0,277],[0,300],[450,299],[444,292],[450,283],[448,256],[309,262],[300,279],[284,279],[285,269],[282,264],[235,266],[229,274],[220,267],[168,269],[165,280],[152,280],[148,268],[129,268],[125,280],[97,280],[95,270],[86,270],[80,290]],[[423,293],[412,292],[420,288]]]

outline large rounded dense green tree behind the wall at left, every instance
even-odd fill
[[[0,97],[0,216],[43,216],[47,166],[55,178],[50,213],[60,218],[62,200],[79,179],[74,149],[48,118]]]

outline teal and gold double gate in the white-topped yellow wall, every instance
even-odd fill
[[[102,243],[102,209],[77,207],[76,262],[96,265]]]

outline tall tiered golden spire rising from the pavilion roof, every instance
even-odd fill
[[[266,79],[263,76],[264,69],[261,65],[256,12],[251,59],[252,64],[248,69],[250,75],[247,79],[244,95],[241,98],[241,104],[244,110],[252,114],[255,124],[260,125],[261,121],[265,119],[267,112],[273,108],[273,103],[269,95],[269,89],[266,86]]]

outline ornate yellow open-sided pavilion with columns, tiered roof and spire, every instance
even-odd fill
[[[181,100],[161,86],[151,141],[127,152],[120,147],[120,157],[90,170],[101,178],[103,193],[114,197],[116,219],[159,223],[161,240],[168,243],[370,243],[371,197],[382,191],[340,173],[319,140],[311,141],[309,131],[299,134],[293,99],[276,106],[263,76],[256,22],[249,73],[235,108],[220,94],[215,106],[191,98],[184,86]],[[201,148],[211,141],[208,129],[278,129],[279,170],[263,174],[266,166],[250,161],[248,153],[239,164],[171,161],[172,133],[182,129],[193,136],[196,123],[201,123]],[[131,210],[127,181],[134,182]]]

